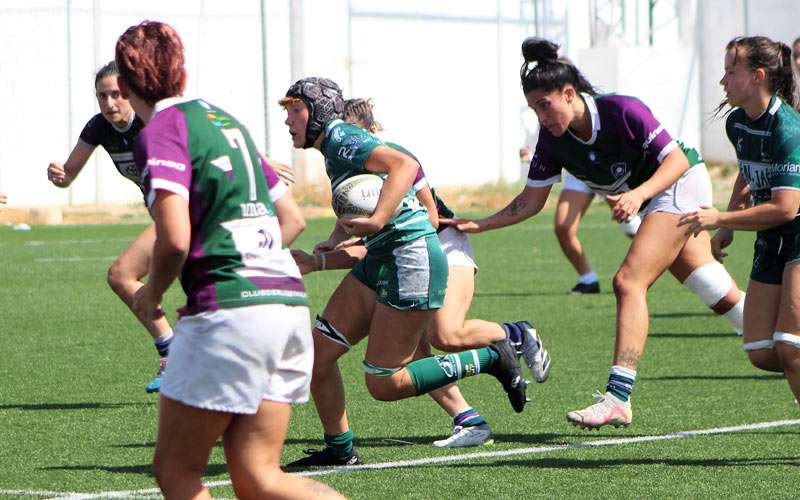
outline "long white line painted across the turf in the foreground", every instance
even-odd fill
[[[775,427],[786,427],[790,425],[800,425],[800,419],[796,420],[774,420],[772,422],[759,422],[756,424],[734,425],[731,427],[715,427],[712,429],[700,429],[696,431],[671,432],[656,436],[637,436],[632,438],[602,439],[597,441],[582,441],[572,444],[559,444],[553,446],[538,446],[533,448],[514,448],[511,450],[485,451],[481,453],[465,453],[458,455],[448,455],[441,457],[419,458],[416,460],[400,460],[397,462],[381,462],[377,464],[351,465],[346,467],[336,467],[318,471],[299,472],[301,476],[327,476],[331,474],[345,474],[360,470],[380,470],[395,469],[399,467],[415,467],[419,465],[441,464],[447,462],[462,462],[465,460],[482,460],[486,458],[510,457],[516,455],[537,455],[552,451],[565,451],[580,448],[599,448],[601,446],[618,446],[625,444],[652,443],[656,441],[670,441],[674,439],[685,439],[698,436],[713,436],[716,434],[732,434],[735,432],[745,432],[754,430],[772,429]],[[206,483],[207,488],[219,486],[229,486],[230,480],[211,481]],[[25,495],[31,497],[46,497],[52,499],[68,498],[70,500],[87,500],[92,498],[160,498],[158,488],[146,488],[141,490],[128,491],[104,491],[101,493],[75,493],[75,492],[55,492],[55,491],[36,491],[36,490],[2,490],[3,495]]]

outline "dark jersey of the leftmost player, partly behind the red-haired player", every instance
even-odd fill
[[[102,113],[97,113],[83,127],[80,142],[89,149],[103,146],[119,173],[144,192],[141,171],[133,161],[133,143],[143,127],[144,122],[135,114],[128,126],[121,129],[106,120]]]

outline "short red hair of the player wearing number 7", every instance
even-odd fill
[[[175,29],[158,21],[131,26],[117,40],[119,75],[149,105],[186,88],[183,42]]]

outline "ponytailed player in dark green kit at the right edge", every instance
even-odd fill
[[[706,205],[681,224],[692,234],[719,228],[712,246],[720,259],[734,230],[758,231],[742,348],[756,367],[783,372],[800,400],[800,114],[791,53],[763,36],[728,43],[719,110],[732,108],[725,131],[739,176],[728,211]]]

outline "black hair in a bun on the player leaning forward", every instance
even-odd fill
[[[566,59],[559,59],[559,46],[544,38],[528,37],[522,42],[522,57],[525,62],[519,70],[522,91],[543,90],[551,92],[561,90],[567,84],[578,92],[596,95],[597,90],[589,80]],[[536,63],[531,67],[531,63]]]

